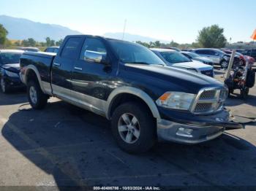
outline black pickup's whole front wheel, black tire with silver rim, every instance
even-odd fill
[[[124,121],[127,116],[129,120]],[[138,122],[135,122],[136,120]],[[137,102],[127,102],[118,106],[113,112],[111,128],[118,146],[125,152],[146,152],[157,140],[154,117],[146,106]]]

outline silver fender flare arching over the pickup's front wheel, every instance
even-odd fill
[[[113,90],[112,93],[110,93],[108,97],[108,101],[105,107],[106,117],[108,120],[110,120],[111,115],[113,114],[113,110],[118,106],[116,105],[116,101],[120,98],[120,96],[133,96],[137,100],[143,101],[143,104],[146,104],[148,106],[148,109],[150,109],[151,114],[154,118],[160,119],[160,114],[157,109],[157,105],[154,103],[153,99],[145,93],[143,90],[140,90],[135,87],[118,87],[116,90]]]

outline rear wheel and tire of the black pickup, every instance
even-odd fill
[[[27,96],[29,98],[29,104],[33,109],[43,109],[48,101],[48,95],[45,95],[45,93],[42,92],[37,81],[28,82]]]

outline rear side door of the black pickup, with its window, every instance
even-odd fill
[[[70,99],[70,90],[72,70],[74,64],[79,59],[80,48],[83,44],[83,37],[72,36],[64,42],[59,55],[53,61],[53,68],[51,71],[51,81],[53,88],[53,95],[62,99]]]

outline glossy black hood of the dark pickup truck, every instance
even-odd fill
[[[173,66],[125,64],[124,70],[131,81],[154,85],[159,90],[198,93],[203,87],[223,87],[217,79]]]

